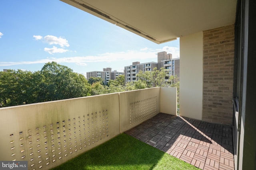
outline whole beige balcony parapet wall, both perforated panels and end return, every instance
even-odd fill
[[[150,88],[0,109],[0,160],[50,169],[154,115],[176,114],[176,88]]]

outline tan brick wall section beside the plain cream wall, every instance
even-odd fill
[[[232,124],[234,25],[203,32],[204,84],[202,120]]]

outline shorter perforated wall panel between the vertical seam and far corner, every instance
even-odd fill
[[[160,88],[120,93],[120,132],[160,113]]]

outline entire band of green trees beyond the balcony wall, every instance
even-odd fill
[[[106,86],[102,78],[91,77],[86,80],[82,74],[56,62],[46,63],[36,72],[0,71],[0,107],[163,86],[177,87],[179,97],[177,77],[170,76],[165,81],[166,72],[163,68],[154,68],[151,72],[140,71],[137,77],[138,81],[125,83],[124,75],[120,75],[115,80],[109,80]]]

